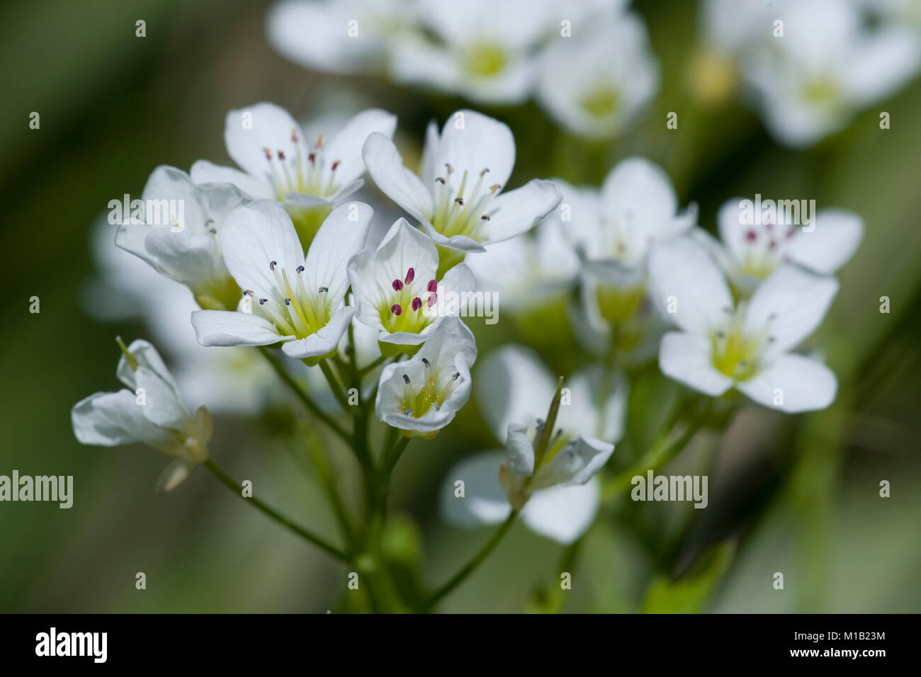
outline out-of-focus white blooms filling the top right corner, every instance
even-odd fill
[[[786,146],[840,131],[921,67],[917,29],[904,20],[871,26],[865,3],[711,0],[704,7],[710,49],[738,65],[764,124]]]

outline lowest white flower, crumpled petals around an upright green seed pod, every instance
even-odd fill
[[[521,517],[531,530],[560,543],[572,543],[589,528],[600,500],[592,475],[623,435],[627,385],[620,375],[606,379],[600,368],[589,368],[567,379],[565,388],[554,426],[560,432],[534,473],[529,436],[542,429],[539,419],[554,399],[555,379],[523,346],[503,347],[484,360],[477,374],[480,410],[496,437],[508,433],[508,445],[505,453],[476,454],[448,473],[439,495],[445,519],[461,527],[498,523],[511,500],[523,505]],[[463,497],[455,495],[458,480]]]

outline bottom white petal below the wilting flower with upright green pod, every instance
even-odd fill
[[[597,479],[575,486],[551,486],[534,492],[521,519],[531,531],[557,543],[574,543],[595,521],[600,497]]]

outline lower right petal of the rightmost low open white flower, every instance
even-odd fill
[[[752,379],[736,384],[756,403],[788,414],[824,409],[834,402],[837,388],[830,368],[800,355],[779,356]]]

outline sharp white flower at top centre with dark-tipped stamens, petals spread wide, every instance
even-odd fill
[[[506,124],[475,111],[455,112],[440,136],[435,123],[428,125],[421,177],[403,167],[384,134],[368,136],[364,158],[379,189],[437,245],[461,257],[528,230],[560,201],[552,181],[502,193],[515,164],[515,139]]]

